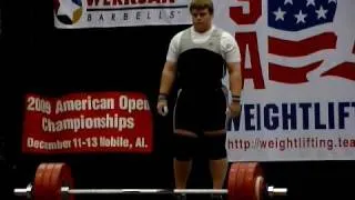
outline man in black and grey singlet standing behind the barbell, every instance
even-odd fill
[[[222,189],[227,171],[225,120],[227,116],[236,117],[241,112],[240,48],[229,32],[212,23],[213,11],[212,0],[191,1],[193,24],[172,38],[162,71],[156,106],[160,114],[166,114],[168,97],[173,82],[179,80],[173,109],[176,189],[186,188],[197,139],[203,140],[204,152],[210,159],[213,189]],[[222,81],[226,71],[231,101]]]

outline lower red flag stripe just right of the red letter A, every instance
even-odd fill
[[[290,68],[276,63],[268,63],[270,80],[283,83],[303,83],[307,82],[307,73],[315,70],[323,61],[314,62],[298,68]]]

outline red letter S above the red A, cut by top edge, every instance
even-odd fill
[[[237,0],[248,2],[250,12],[244,14],[242,7],[231,7],[230,17],[237,24],[253,24],[262,16],[261,0]]]

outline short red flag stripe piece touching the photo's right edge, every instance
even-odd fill
[[[328,71],[322,73],[322,77],[334,76],[341,77],[344,79],[355,81],[355,63],[354,62],[343,62],[335,68],[329,69]]]

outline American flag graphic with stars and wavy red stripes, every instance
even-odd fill
[[[333,27],[336,10],[336,0],[267,1],[270,80],[307,82],[307,73],[328,59],[324,51],[332,52],[337,48]],[[311,56],[316,59],[310,59]],[[355,81],[355,63],[334,66],[322,76]]]

